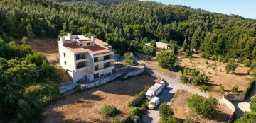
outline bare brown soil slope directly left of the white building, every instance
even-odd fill
[[[31,39],[28,41],[32,49],[41,53],[56,53],[58,52],[58,42],[55,38],[50,39]]]

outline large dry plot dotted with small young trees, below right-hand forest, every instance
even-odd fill
[[[233,74],[226,74],[225,64],[227,63],[223,64],[219,61],[216,61],[216,65],[214,65],[214,61],[208,59],[208,64],[211,65],[207,67],[207,60],[199,57],[197,54],[193,54],[193,57],[191,59],[183,58],[178,59],[178,61],[179,66],[181,67],[186,65],[191,69],[201,71],[201,73],[203,73],[204,71],[206,76],[209,76],[210,78],[207,86],[210,86],[210,88],[212,88],[213,90],[219,90],[219,85],[223,84],[223,86],[225,87],[225,92],[230,93],[230,90],[233,88],[233,86],[238,85],[238,91],[242,92],[245,90],[245,86],[247,85],[246,79],[250,77],[250,75],[247,74],[247,71],[250,68],[245,67],[242,64],[239,64],[238,68],[235,69]],[[213,69],[213,67],[215,68]],[[220,95],[220,93],[216,92],[217,91],[215,91],[215,94]]]

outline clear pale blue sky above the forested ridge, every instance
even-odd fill
[[[145,1],[145,0],[141,0]],[[235,14],[244,18],[256,19],[256,0],[150,0],[162,4],[183,5],[201,8],[206,11]]]

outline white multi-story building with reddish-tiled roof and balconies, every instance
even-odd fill
[[[68,33],[60,37],[58,48],[60,66],[68,71],[73,83],[92,81],[112,74],[114,52],[112,46],[102,40]]]

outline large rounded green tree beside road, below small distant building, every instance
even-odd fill
[[[172,69],[174,64],[177,62],[174,53],[169,51],[164,51],[157,54],[156,60],[158,61],[159,66],[164,69]]]

